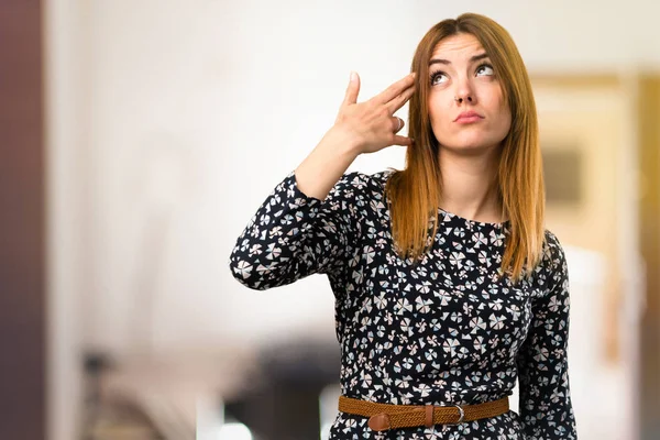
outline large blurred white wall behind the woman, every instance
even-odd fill
[[[323,278],[249,292],[231,277],[229,252],[332,124],[349,72],[362,77],[359,99],[380,92],[408,72],[437,21],[491,15],[534,74],[660,68],[660,7],[648,0],[52,0],[48,9],[54,384],[76,383],[80,346],[172,354],[301,331],[332,339]],[[403,160],[393,147],[351,168]],[[51,405],[75,389],[53,386]],[[73,413],[61,414],[58,432]]]

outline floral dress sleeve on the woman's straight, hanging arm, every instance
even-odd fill
[[[531,323],[517,358],[519,410],[527,440],[575,440],[569,386],[569,273],[558,239],[547,233],[550,270],[534,299]]]

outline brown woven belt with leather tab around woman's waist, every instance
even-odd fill
[[[457,425],[499,416],[509,410],[508,396],[499,400],[476,405],[391,405],[339,396],[339,410],[355,416],[369,417],[369,427],[374,431],[413,428],[433,425]]]

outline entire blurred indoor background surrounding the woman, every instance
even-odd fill
[[[659,439],[651,0],[2,0],[0,438],[327,436],[327,278],[254,292],[229,254],[332,125],[350,70],[371,98],[466,11],[503,24],[532,77],[580,438]],[[349,170],[387,166],[402,147]]]

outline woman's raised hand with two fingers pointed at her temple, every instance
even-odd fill
[[[352,73],[333,129],[356,138],[358,153],[375,153],[389,145],[410,145],[410,138],[396,134],[404,128],[394,112],[415,92],[415,73],[406,75],[372,99],[358,103],[360,77]]]

